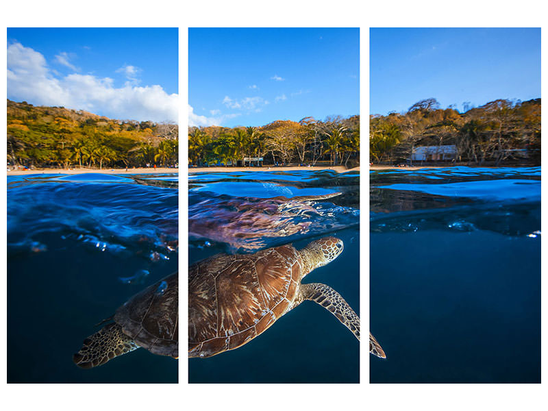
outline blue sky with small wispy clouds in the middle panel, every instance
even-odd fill
[[[190,28],[189,125],[360,114],[357,28]]]

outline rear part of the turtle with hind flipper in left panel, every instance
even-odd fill
[[[177,273],[145,288],[116,310],[110,317],[114,323],[84,340],[73,361],[89,369],[139,347],[160,356],[178,358],[178,296]]]

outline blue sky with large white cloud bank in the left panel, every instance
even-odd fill
[[[178,120],[176,28],[8,28],[8,99]]]

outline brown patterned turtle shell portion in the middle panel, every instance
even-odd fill
[[[299,252],[284,245],[190,266],[188,356],[214,356],[264,332],[295,300],[302,265]]]

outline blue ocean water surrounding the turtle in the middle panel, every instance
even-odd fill
[[[303,196],[340,195],[306,201]],[[189,264],[216,253],[256,253],[323,236],[343,253],[303,282],[340,292],[360,313],[359,175],[332,171],[191,173]],[[335,316],[304,301],[249,343],[190,358],[190,383],[359,382],[359,342]]]

